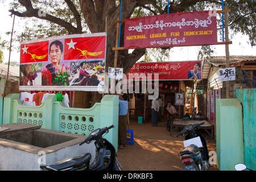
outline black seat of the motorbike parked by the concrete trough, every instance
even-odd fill
[[[63,170],[63,169],[71,168],[74,166],[80,166],[83,163],[89,163],[91,158],[92,158],[92,155],[90,155],[90,153],[86,153],[73,158],[66,158],[66,159],[59,160],[55,163],[47,165],[47,168]]]

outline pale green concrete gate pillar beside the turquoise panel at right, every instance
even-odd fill
[[[233,171],[243,162],[242,105],[237,98],[216,100],[217,166]]]

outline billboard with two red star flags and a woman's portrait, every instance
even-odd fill
[[[106,33],[22,42],[19,90],[104,89]]]

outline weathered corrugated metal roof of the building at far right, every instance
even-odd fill
[[[204,60],[216,67],[226,65],[226,56],[205,57]],[[236,64],[242,61],[256,61],[256,56],[229,56],[230,64]]]

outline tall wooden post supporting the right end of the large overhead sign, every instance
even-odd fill
[[[224,10],[227,10],[227,6],[224,7]],[[228,13],[224,13],[225,20],[225,42],[229,41],[229,22],[228,22]],[[225,44],[226,48],[226,68],[229,68],[229,44]],[[230,98],[230,81],[226,81],[226,98]]]

